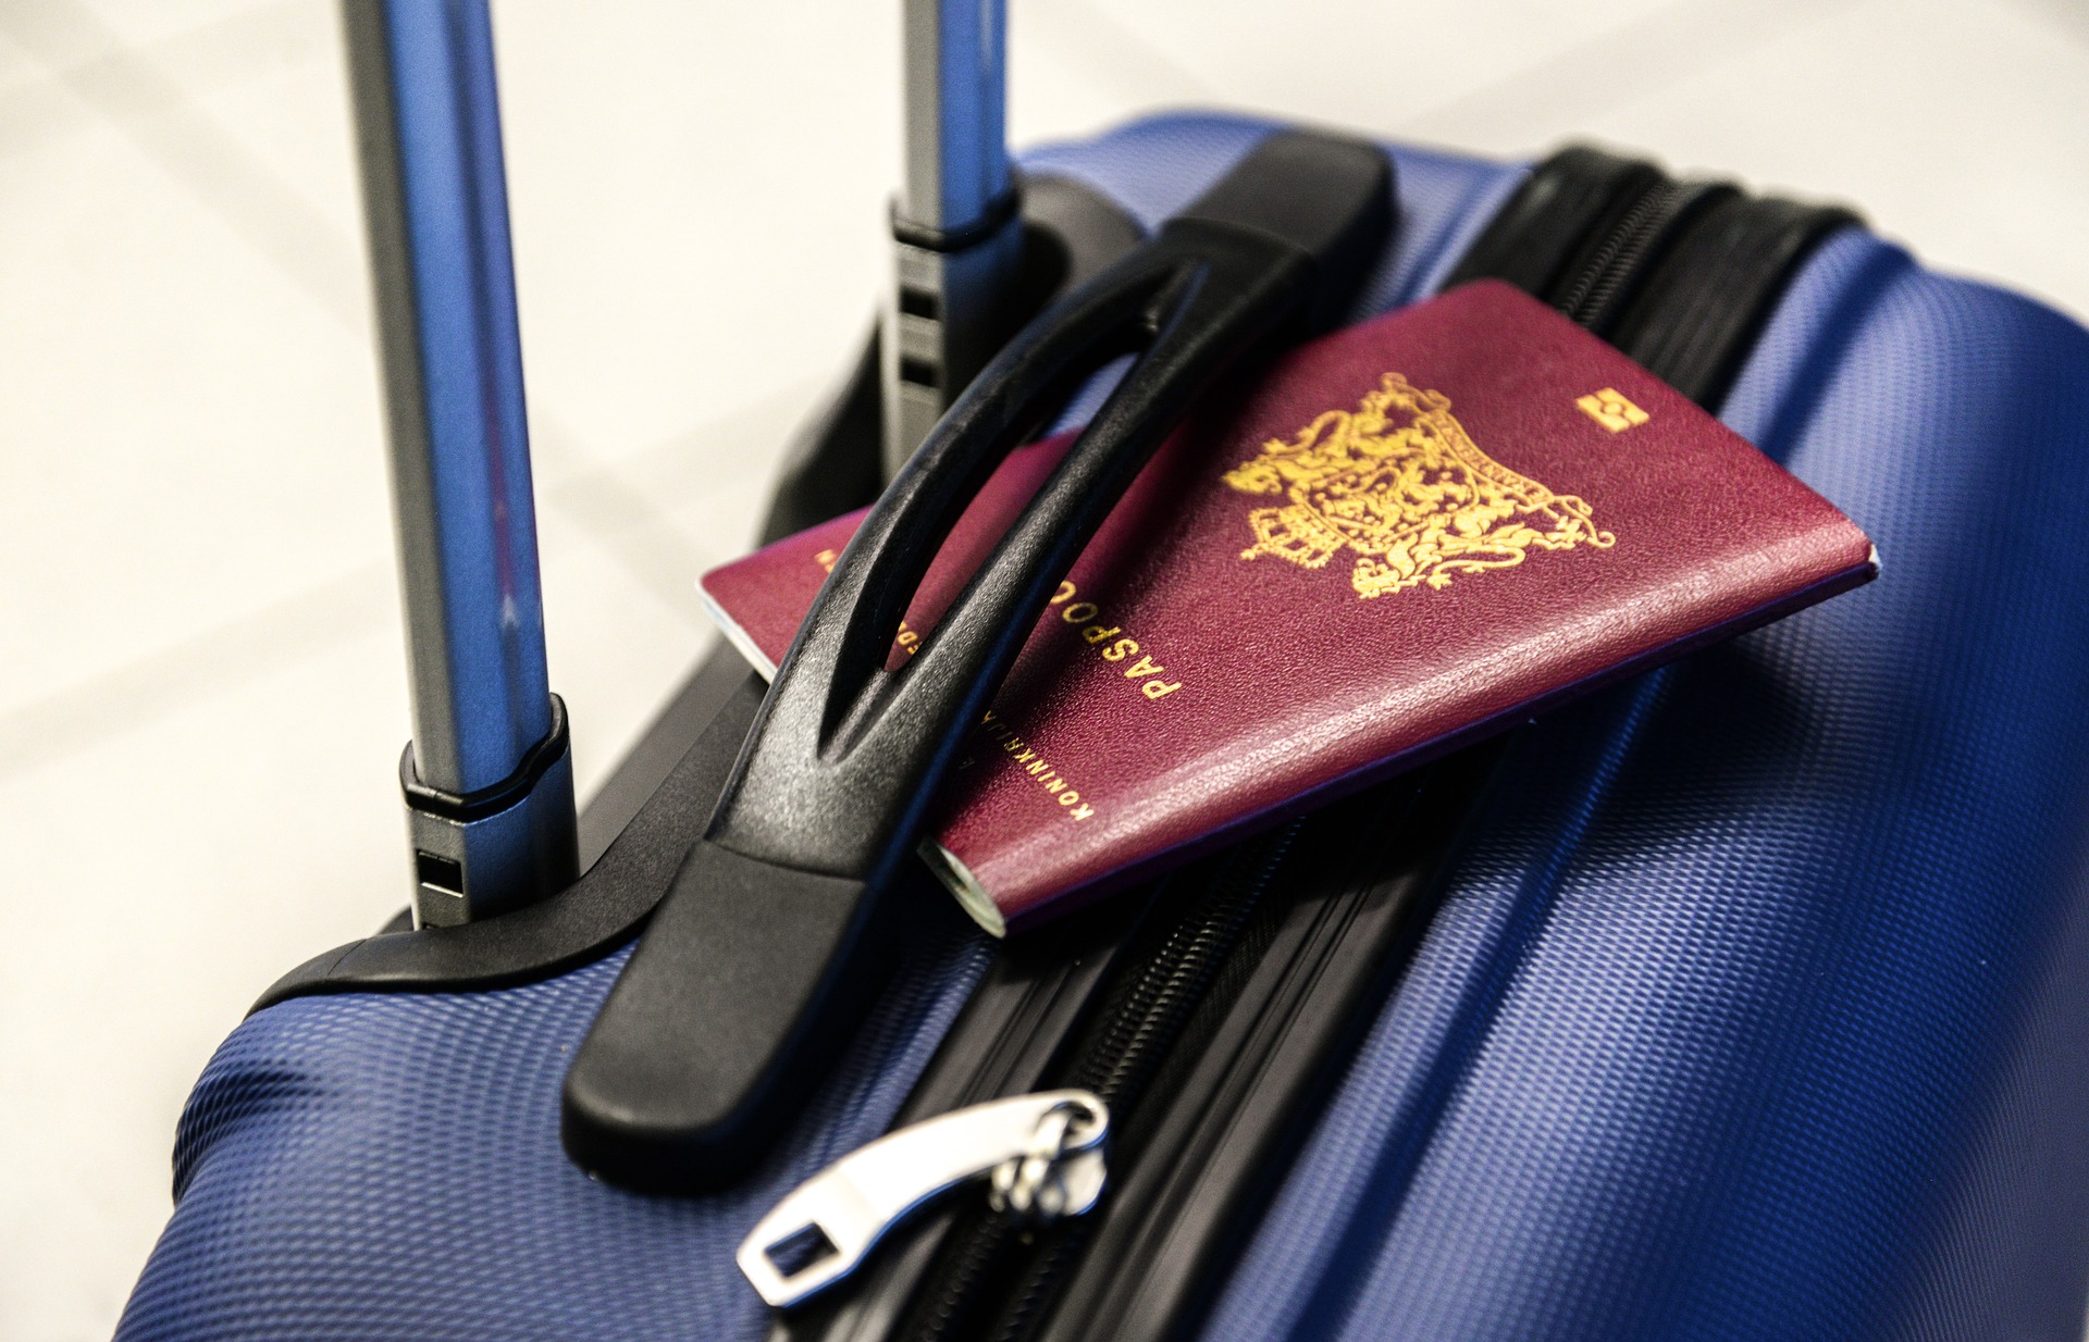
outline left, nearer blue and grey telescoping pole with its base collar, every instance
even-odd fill
[[[487,0],[343,0],[391,430],[414,922],[579,874],[549,691]]]

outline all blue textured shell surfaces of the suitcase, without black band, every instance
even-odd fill
[[[1268,129],[1026,163],[1151,225]],[[1521,177],[1393,152],[1360,315],[1429,294]],[[1845,230],[1723,420],[1882,578],[1517,737],[1205,1336],[2081,1336],[2089,334]],[[740,1238],[884,1129],[988,956],[925,929],[796,1131],[700,1200],[558,1144],[623,952],[272,1006],[190,1098],[119,1338],[758,1338]]]

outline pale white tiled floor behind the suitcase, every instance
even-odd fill
[[[551,680],[587,793],[859,338],[890,4],[497,6]],[[1861,202],[2089,313],[2081,0],[1015,0],[1019,142],[1230,104]],[[107,1336],[173,1119],[403,895],[376,376],[326,0],[0,0],[0,1336]]]

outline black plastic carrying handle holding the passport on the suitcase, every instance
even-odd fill
[[[731,1183],[848,1037],[879,895],[1047,599],[1161,438],[1243,357],[1331,326],[1391,232],[1372,144],[1287,131],[1026,328],[842,551],[704,839],[574,1056],[562,1137],[648,1190]],[[915,655],[907,601],[992,470],[1122,353],[1124,382]]]

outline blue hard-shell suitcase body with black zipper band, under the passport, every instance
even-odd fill
[[[1028,227],[1099,269],[1278,129],[1032,150]],[[1849,511],[1880,582],[1032,937],[915,874],[773,1150],[631,1192],[562,1150],[562,1087],[754,720],[727,653],[597,799],[635,818],[597,816],[579,885],[269,989],[190,1098],[119,1336],[2074,1338],[2089,614],[2056,595],[2089,559],[2041,505],[2089,472],[2089,336],[1840,211],[1387,152],[1349,317],[1506,278]],[[892,353],[771,534],[875,490]],[[735,1265],[879,1133],[1053,1087],[1111,1110],[1086,1217],[959,1190],[788,1313]]]

